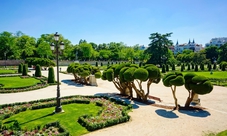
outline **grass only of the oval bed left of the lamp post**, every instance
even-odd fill
[[[4,85],[2,88],[23,88],[41,83],[35,78],[20,78],[16,77],[1,77],[0,84]]]

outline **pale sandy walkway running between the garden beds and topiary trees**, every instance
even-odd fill
[[[65,67],[62,67],[65,70]],[[55,69],[56,71],[56,69]],[[33,74],[32,71],[30,74]],[[42,71],[47,76],[47,71]],[[61,96],[69,95],[97,95],[119,93],[111,82],[98,79],[98,87],[81,86],[70,81],[72,75],[60,73],[62,82]],[[145,86],[145,85],[144,85]],[[173,105],[170,88],[164,87],[162,82],[152,84],[150,94],[161,98],[163,105]],[[188,92],[184,87],[177,88],[177,98],[180,105],[184,105]],[[31,101],[56,97],[56,86],[13,93],[0,94],[0,104]],[[133,102],[130,112],[131,121],[113,127],[94,131],[87,136],[202,136],[208,132],[220,132],[227,129],[227,88],[214,86],[214,90],[207,95],[199,96],[204,111],[172,111]]]

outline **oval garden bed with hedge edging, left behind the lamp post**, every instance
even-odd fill
[[[0,93],[24,92],[55,84],[47,84],[46,77],[2,76],[0,77]]]

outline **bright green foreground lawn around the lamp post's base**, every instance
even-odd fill
[[[22,129],[34,129],[38,125],[45,125],[50,122],[59,121],[60,124],[72,136],[80,136],[89,131],[82,127],[78,122],[79,116],[84,114],[97,115],[102,109],[95,104],[68,104],[62,106],[64,113],[52,114],[54,107],[44,108],[39,110],[27,110],[19,114],[13,115],[8,119],[3,120],[5,125],[12,125],[14,121],[18,121]]]

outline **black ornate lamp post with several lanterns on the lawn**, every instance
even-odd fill
[[[55,107],[55,113],[59,113],[59,112],[64,112],[61,106],[60,86],[59,86],[59,63],[58,63],[59,53],[60,53],[60,50],[64,49],[64,43],[63,42],[59,43],[59,34],[57,32],[54,34],[54,40],[55,40],[55,43],[51,43],[51,50],[55,50],[56,62],[57,62],[57,97],[56,97],[57,105]]]

